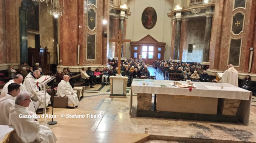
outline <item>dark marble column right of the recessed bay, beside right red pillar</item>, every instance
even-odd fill
[[[203,62],[209,61],[210,42],[211,42],[211,24],[213,17],[211,14],[207,14],[205,23],[205,34],[204,34],[204,56]]]

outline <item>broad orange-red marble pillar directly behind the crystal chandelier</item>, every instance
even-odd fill
[[[64,5],[65,14],[60,17],[60,65],[76,66],[79,1],[67,0]]]

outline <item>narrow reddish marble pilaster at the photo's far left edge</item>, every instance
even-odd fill
[[[5,1],[0,0],[0,64],[6,63]]]

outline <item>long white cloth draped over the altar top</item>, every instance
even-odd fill
[[[143,85],[143,82],[148,85]],[[168,80],[148,80],[134,79],[131,84],[133,93],[153,93],[153,94],[168,94],[168,95],[185,95],[185,96],[200,96],[226,99],[249,100],[251,92],[240,87],[233,86],[228,83],[205,83],[193,82],[196,89],[190,92],[188,88],[179,88],[173,86],[174,81]],[[187,81],[178,81],[182,84],[187,84]],[[165,85],[166,87],[161,87]],[[224,88],[221,89],[221,86]]]

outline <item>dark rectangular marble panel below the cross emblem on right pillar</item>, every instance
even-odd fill
[[[239,66],[240,47],[242,39],[231,39],[230,40],[230,51],[228,64]]]

